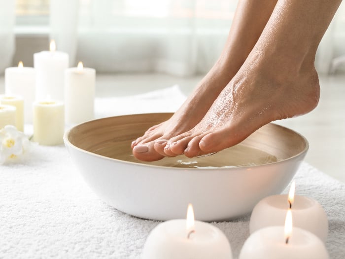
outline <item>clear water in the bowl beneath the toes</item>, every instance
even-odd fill
[[[130,147],[130,143],[126,142],[116,146],[99,149],[95,151],[95,153],[141,164],[199,169],[256,166],[281,160],[263,150],[239,144],[215,154],[202,157],[188,158],[184,155],[179,155],[176,157],[165,157],[159,161],[145,162],[135,158],[132,154],[132,149],[128,147]]]

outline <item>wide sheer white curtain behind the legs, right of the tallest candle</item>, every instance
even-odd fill
[[[237,0],[51,0],[51,37],[100,73],[206,73],[224,46]],[[344,4],[342,4],[344,5]],[[319,72],[345,55],[342,6],[317,52]]]

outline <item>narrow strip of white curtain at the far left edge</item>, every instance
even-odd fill
[[[10,67],[14,54],[14,0],[0,0],[0,74]]]

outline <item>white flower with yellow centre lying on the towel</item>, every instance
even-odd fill
[[[0,164],[13,160],[30,151],[31,143],[23,132],[12,125],[6,125],[0,130]]]

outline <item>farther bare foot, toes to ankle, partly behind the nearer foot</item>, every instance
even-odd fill
[[[192,129],[205,116],[219,93],[236,73],[224,73],[217,64],[200,82],[193,94],[173,116],[149,128],[145,134],[132,142],[133,154],[140,160],[155,161],[167,156],[164,147],[168,139]],[[228,69],[228,68],[227,68]]]

